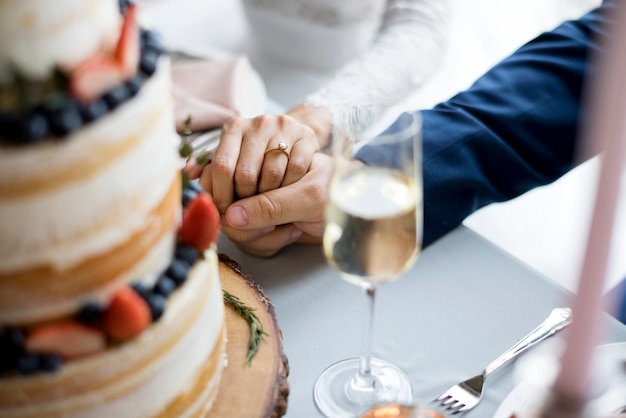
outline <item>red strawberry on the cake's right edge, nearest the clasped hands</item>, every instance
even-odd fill
[[[180,229],[181,241],[202,252],[217,241],[220,214],[208,193],[199,193],[187,204]]]

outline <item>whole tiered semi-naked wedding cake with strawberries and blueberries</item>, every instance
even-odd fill
[[[135,4],[0,1],[0,416],[210,409],[219,216],[179,142]]]

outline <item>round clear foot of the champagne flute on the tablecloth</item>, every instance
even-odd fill
[[[411,382],[402,370],[375,358],[371,368],[374,383],[368,388],[359,388],[355,384],[358,358],[342,360],[324,370],[313,388],[320,412],[332,418],[355,418],[377,404],[397,402],[408,405],[412,402]]]

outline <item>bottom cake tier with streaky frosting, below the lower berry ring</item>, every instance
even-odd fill
[[[204,416],[225,362],[217,255],[207,251],[136,339],[54,374],[0,379],[0,416]]]

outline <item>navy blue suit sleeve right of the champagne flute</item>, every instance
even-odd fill
[[[583,81],[613,7],[528,42],[469,89],[423,110],[424,245],[472,212],[550,183],[574,164]],[[382,155],[365,146],[365,163]]]

